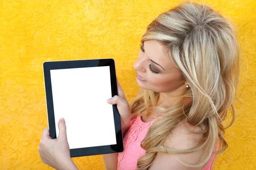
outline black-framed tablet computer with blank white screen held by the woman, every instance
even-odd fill
[[[117,105],[107,103],[118,95],[114,60],[44,62],[43,72],[51,138],[63,117],[71,157],[122,152]]]

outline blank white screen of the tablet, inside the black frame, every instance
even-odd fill
[[[116,144],[109,66],[50,70],[56,136],[64,118],[70,149]]]

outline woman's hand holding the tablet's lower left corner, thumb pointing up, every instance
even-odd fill
[[[63,118],[59,120],[58,128],[59,136],[56,139],[52,139],[49,136],[48,127],[44,129],[40,145],[38,146],[39,156],[44,164],[57,170],[78,170],[70,158],[66,123]]]

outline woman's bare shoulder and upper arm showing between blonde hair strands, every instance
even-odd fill
[[[188,127],[189,128],[189,127]],[[199,132],[201,129],[189,128],[192,131]],[[186,131],[183,127],[179,126],[164,142],[164,145],[175,149],[188,149],[198,144],[198,141],[203,138],[202,134],[193,134]],[[164,152],[157,152],[157,155],[149,167],[149,170],[201,170],[203,167],[187,167],[180,163],[177,159],[185,162],[186,164],[196,165],[202,159],[205,153],[205,148],[197,150],[193,153],[186,154],[171,154]],[[176,159],[176,158],[177,159]]]

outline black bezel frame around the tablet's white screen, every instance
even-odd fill
[[[115,62],[113,59],[47,61],[43,63],[44,85],[45,85],[45,95],[46,95],[46,105],[47,105],[47,119],[48,119],[49,133],[52,139],[56,138],[56,129],[55,129],[50,70],[67,69],[67,68],[101,67],[101,66],[109,66],[112,97],[115,95],[118,95],[117,84],[116,84],[116,69],[115,69]],[[70,157],[122,152],[123,151],[122,128],[121,128],[120,115],[117,110],[117,105],[113,105],[113,116],[114,116],[115,131],[116,131],[116,144],[70,149]]]

